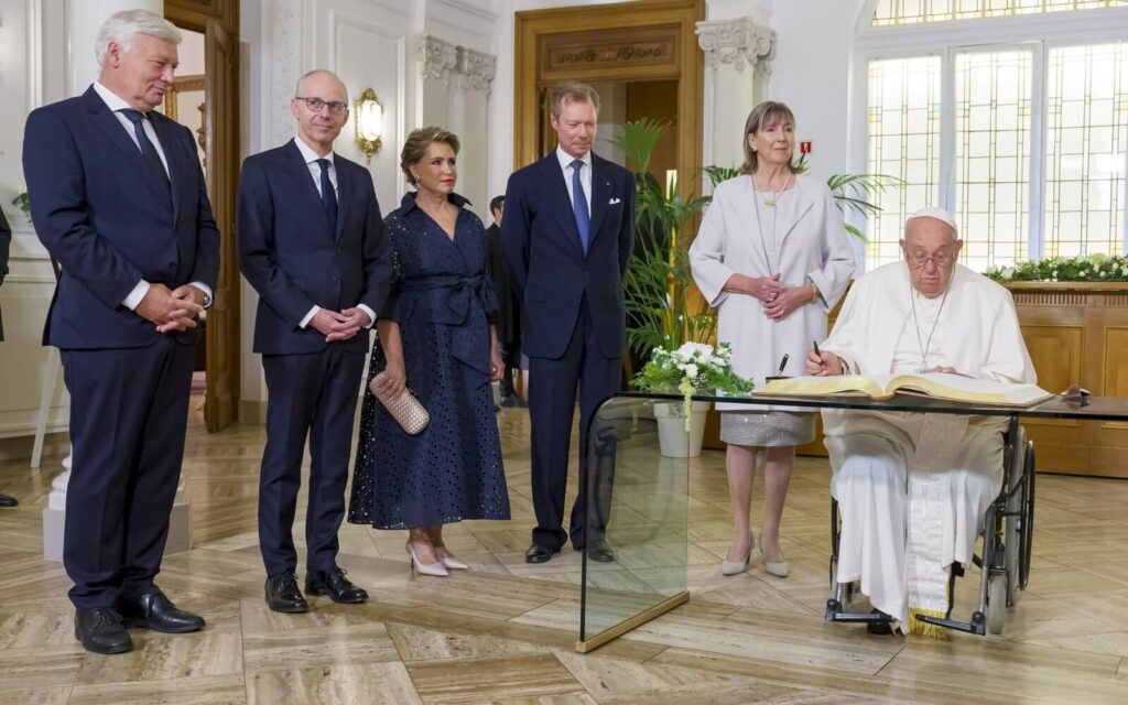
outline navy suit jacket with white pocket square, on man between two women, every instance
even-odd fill
[[[626,350],[623,275],[634,248],[634,177],[591,155],[591,229],[584,256],[564,171],[554,149],[509,177],[502,247],[522,303],[521,352],[559,359],[587,297],[606,358]]]

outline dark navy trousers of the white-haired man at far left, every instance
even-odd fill
[[[184,459],[192,345],[61,351],[71,396],[63,565],[79,609],[152,589]]]

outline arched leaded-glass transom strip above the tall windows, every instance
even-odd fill
[[[879,0],[873,26],[1128,7],[1128,0]]]

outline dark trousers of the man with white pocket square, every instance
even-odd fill
[[[602,539],[606,508],[589,515],[584,487],[588,479],[588,429],[599,403],[619,390],[623,359],[606,358],[599,351],[587,298],[567,350],[558,360],[529,359],[529,416],[532,423],[532,506],[537,527],[532,540],[561,548],[571,534],[572,545],[582,548],[587,540]],[[572,418],[575,415],[576,387],[580,388],[580,474],[579,493],[572,505],[570,531],[563,529],[564,491],[567,486],[569,455],[572,446]],[[609,504],[610,492],[601,492]],[[591,537],[584,527],[591,523]]]

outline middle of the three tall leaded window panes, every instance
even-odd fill
[[[955,221],[977,272],[1026,258],[1031,54],[955,56]]]

